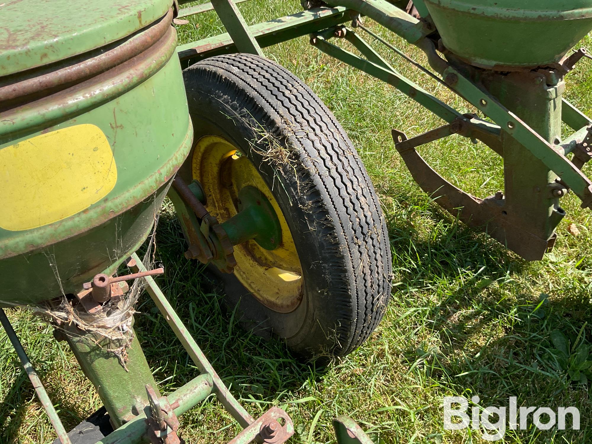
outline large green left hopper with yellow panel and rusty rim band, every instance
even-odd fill
[[[64,14],[60,2],[47,8]],[[133,17],[109,2],[67,24],[40,17],[34,34],[33,5],[3,7],[15,36],[0,56],[5,302],[37,304],[113,274],[146,240],[191,148],[189,116],[176,115],[187,105],[170,5],[128,8]]]

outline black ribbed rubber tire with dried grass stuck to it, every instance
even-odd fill
[[[220,273],[229,304],[239,303],[243,320],[285,338],[298,353],[347,355],[377,327],[391,292],[387,227],[351,141],[311,89],[271,60],[211,57],[183,75],[194,140],[221,136],[249,157],[274,190],[304,273],[303,301],[287,314]],[[260,128],[288,150],[290,162],[262,160]],[[191,156],[180,171],[186,179]]]

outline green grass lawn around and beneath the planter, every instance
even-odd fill
[[[253,0],[241,5],[253,23],[297,11],[297,1]],[[181,27],[181,43],[222,31],[213,13],[197,29]],[[378,27],[373,27],[380,31]],[[408,54],[421,54],[384,31]],[[584,42],[590,44],[590,38]],[[592,342],[592,242],[590,211],[570,195],[555,250],[527,263],[487,236],[468,230],[440,210],[414,184],[391,140],[391,128],[420,134],[441,124],[403,94],[336,62],[308,45],[308,38],[265,50],[326,102],[345,127],[381,197],[393,256],[392,301],[370,340],[348,358],[325,367],[303,362],[279,340],[265,342],[244,332],[224,308],[224,294],[202,266],[182,258],[184,240],[170,202],[157,228],[156,259],[166,270],[158,279],[218,374],[253,416],[272,405],[285,408],[297,433],[294,443],[334,442],[331,420],[349,414],[374,442],[478,443],[471,430],[443,430],[442,398],[478,394],[481,406],[577,406],[581,430],[539,432],[532,426],[509,431],[506,443],[592,442],[590,383],[567,382],[549,355],[549,334]],[[400,59],[385,57],[440,98],[469,111],[442,86]],[[567,98],[592,114],[592,65],[583,60],[567,78]],[[481,144],[451,137],[422,147],[422,153],[453,184],[479,197],[503,189],[501,160]],[[588,169],[590,172],[590,169]],[[575,223],[580,236],[568,234]],[[198,371],[176,342],[152,301],[140,299],[136,330],[165,392]],[[60,417],[73,427],[101,405],[73,355],[53,340],[43,321],[9,311]],[[48,443],[49,420],[25,377],[4,332],[0,332],[0,442]],[[320,412],[315,423],[313,419]],[[312,428],[314,424],[314,429]],[[182,417],[187,442],[225,442],[239,432],[211,398]]]

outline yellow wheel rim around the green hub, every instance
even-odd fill
[[[271,202],[282,229],[281,243],[274,250],[254,240],[235,245],[234,275],[266,307],[279,313],[295,310],[303,292],[300,259],[284,214],[258,170],[232,143],[218,136],[197,141],[191,168],[204,189],[205,207],[220,223],[237,214],[238,194],[244,186],[255,186]]]

